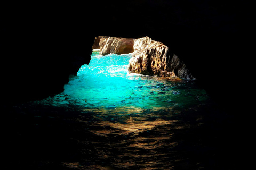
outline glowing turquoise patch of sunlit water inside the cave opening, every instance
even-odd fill
[[[204,104],[208,96],[193,81],[129,74],[131,54],[93,52],[89,65],[83,65],[77,76],[70,77],[62,94],[42,100],[55,106],[79,105],[84,108],[116,110],[186,109]]]

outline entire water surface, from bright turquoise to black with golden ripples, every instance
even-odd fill
[[[13,107],[23,142],[15,149],[28,153],[17,166],[227,168],[228,117],[205,90],[195,81],[128,74],[130,58],[93,53],[63,93]]]

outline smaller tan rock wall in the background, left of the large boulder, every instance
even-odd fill
[[[98,43],[99,39],[100,39],[100,41],[99,41],[100,55],[107,55],[110,53],[128,54],[128,53],[133,52],[133,41],[134,40],[132,38],[99,36],[94,41],[95,47],[98,47],[97,43]],[[94,47],[94,49],[95,49],[95,47]]]

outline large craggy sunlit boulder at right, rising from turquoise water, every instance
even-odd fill
[[[169,48],[163,43],[143,37],[134,40],[133,48],[129,73],[194,79],[180,58],[169,53]]]

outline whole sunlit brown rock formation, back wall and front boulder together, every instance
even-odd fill
[[[163,43],[149,37],[131,39],[99,36],[95,38],[92,48],[99,48],[100,55],[132,53],[129,73],[195,79],[177,55],[170,53]]]

